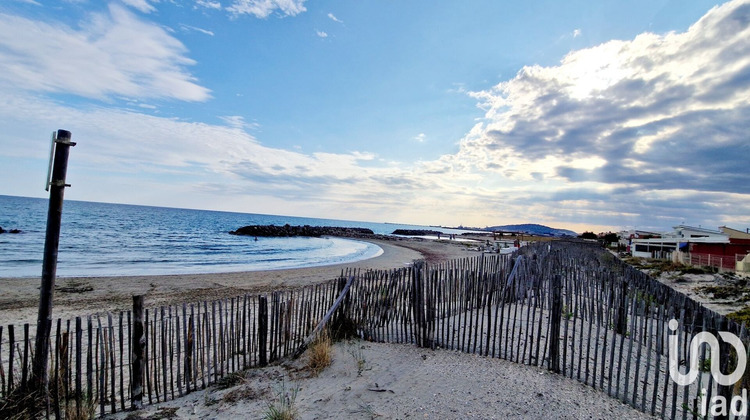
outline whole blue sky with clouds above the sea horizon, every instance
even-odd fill
[[[0,194],[750,227],[750,0],[3,0]]]

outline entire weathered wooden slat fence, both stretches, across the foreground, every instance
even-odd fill
[[[729,401],[750,376],[726,387],[702,369],[689,386],[677,385],[668,369],[670,337],[677,339],[684,374],[695,334],[730,331],[747,344],[744,325],[596,246],[557,241],[511,255],[347,272],[297,290],[146,310],[143,402],[171,400],[293,354],[337,298],[333,319],[364,339],[539,366],[663,418],[698,417],[706,401],[717,395]],[[678,321],[674,331],[672,319]],[[56,322],[51,416],[130,408],[134,325],[129,311]],[[3,397],[25,386],[31,343],[28,325],[0,329]],[[722,344],[714,355],[706,347],[697,356],[701,366],[720,357],[722,371],[731,370],[737,355],[730,346]]]

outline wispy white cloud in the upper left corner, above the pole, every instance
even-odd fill
[[[195,63],[187,49],[162,27],[117,5],[77,27],[0,14],[0,84],[97,99],[209,98],[186,71]]]

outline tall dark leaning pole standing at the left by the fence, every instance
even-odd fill
[[[57,272],[57,250],[60,245],[60,224],[68,171],[68,153],[75,143],[70,141],[70,131],[57,130],[55,139],[55,160],[52,179],[49,182],[49,210],[47,212],[47,234],[44,240],[44,260],[42,262],[42,286],[39,292],[39,316],[36,321],[36,343],[32,378],[39,392],[46,394],[47,358],[52,324],[52,296],[55,291]]]

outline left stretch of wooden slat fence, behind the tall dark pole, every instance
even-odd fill
[[[269,295],[146,309],[144,404],[173,400],[232,372],[289,356],[331,306],[338,287],[333,280]],[[131,311],[53,323],[50,417],[130,409],[133,327]],[[29,331],[29,324],[0,326],[0,398],[30,385]]]

